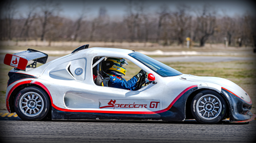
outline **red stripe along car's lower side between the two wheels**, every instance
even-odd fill
[[[127,113],[127,114],[156,114],[156,113],[161,113],[161,112],[165,112],[167,110],[169,110],[173,105],[174,103],[185,93],[187,92],[188,90],[192,89],[192,88],[195,88],[197,87],[197,85],[192,85],[188,88],[186,88],[184,91],[182,91],[175,99],[172,103],[170,103],[170,105],[163,109],[163,110],[159,110],[159,111],[107,111],[107,110],[71,110],[71,109],[63,109],[63,108],[60,108],[60,107],[57,107],[56,105],[54,105],[53,103],[53,100],[52,100],[52,96],[49,92],[49,90],[45,87],[44,84],[38,82],[38,81],[32,81],[33,84],[37,84],[39,85],[40,87],[42,87],[47,93],[48,95],[50,96],[51,98],[51,102],[52,102],[52,106],[57,109],[57,110],[60,110],[60,111],[66,111],[66,112],[95,112],[95,113]]]

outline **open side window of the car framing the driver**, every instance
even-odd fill
[[[102,57],[95,57],[92,63],[92,65],[95,65],[95,63],[96,64],[98,63],[93,68],[93,79],[96,85],[102,86],[102,87],[112,87],[112,88],[119,88],[119,89],[126,89],[126,90],[136,89],[135,87],[136,87],[136,82],[138,81],[138,78],[135,78],[134,76],[139,73],[139,71],[141,70],[140,67],[138,67],[136,64],[124,58],[108,57],[103,60],[101,58]],[[100,59],[102,61],[97,62]],[[118,62],[117,63],[113,62],[113,60],[115,59],[119,59],[122,61],[125,60],[125,62],[122,66],[120,66],[118,65]],[[119,84],[122,84],[122,85],[119,85]]]

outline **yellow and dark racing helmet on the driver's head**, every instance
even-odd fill
[[[123,58],[108,58],[106,61],[114,62],[114,65],[109,68],[109,71],[116,73],[118,75],[125,75],[126,69],[122,66],[128,65],[128,63]]]

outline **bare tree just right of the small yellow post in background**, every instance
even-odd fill
[[[197,31],[200,40],[200,46],[204,46],[208,38],[214,34],[216,28],[216,12],[210,5],[204,5],[198,11],[197,16]]]

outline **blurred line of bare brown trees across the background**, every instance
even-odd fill
[[[209,4],[190,7],[185,4],[170,9],[162,5],[156,12],[145,2],[124,3],[122,19],[111,20],[106,8],[88,18],[87,9],[77,19],[60,16],[61,5],[54,1],[30,4],[19,18],[15,1],[1,2],[0,40],[154,42],[161,45],[183,45],[186,37],[205,43],[228,42],[229,46],[256,46],[255,15],[219,14]],[[84,7],[87,5],[85,4]]]

